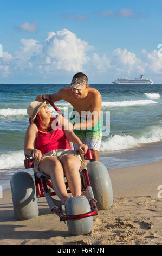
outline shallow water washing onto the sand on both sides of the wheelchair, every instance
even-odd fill
[[[152,142],[141,147],[109,151],[108,153],[100,152],[99,159],[110,172],[120,168],[132,168],[155,163],[162,160],[162,141]],[[4,191],[10,188],[11,176],[18,171],[28,172],[34,178],[33,170],[25,169],[23,166],[0,169],[0,190]]]

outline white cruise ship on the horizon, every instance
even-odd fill
[[[114,84],[153,84],[153,81],[151,79],[145,79],[142,78],[143,75],[141,75],[139,78],[134,79],[128,79],[127,77],[117,78],[114,82]]]

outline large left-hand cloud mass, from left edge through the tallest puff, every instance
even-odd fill
[[[43,41],[21,38],[21,47],[13,56],[5,53],[0,65],[9,62],[9,70],[33,72],[35,74],[57,73],[58,70],[66,72],[83,71],[83,66],[89,62],[87,52],[92,50],[86,41],[77,38],[76,34],[68,29],[49,32]],[[2,70],[2,68],[1,68]],[[4,70],[4,69],[3,69]],[[7,72],[5,72],[7,74]]]

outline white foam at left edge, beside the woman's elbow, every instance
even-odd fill
[[[24,166],[24,151],[9,151],[0,155],[0,169],[10,169]]]

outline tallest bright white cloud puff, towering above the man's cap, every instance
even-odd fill
[[[87,42],[77,38],[73,32],[62,29],[57,31],[44,50],[54,61],[56,69],[76,72],[83,70],[83,65],[89,61],[86,52],[92,48]]]

